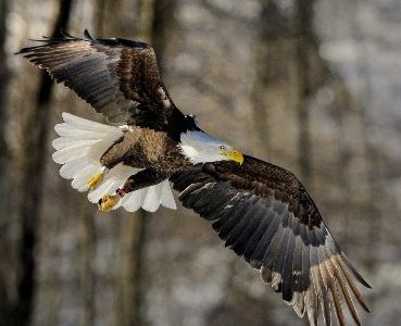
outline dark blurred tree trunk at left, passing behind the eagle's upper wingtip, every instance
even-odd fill
[[[70,18],[72,0],[61,0],[59,16],[54,23],[52,36],[65,30]],[[51,97],[52,80],[42,73],[37,95],[36,106],[29,112],[25,125],[26,143],[24,145],[25,164],[23,183],[25,190],[21,192],[22,239],[20,244],[21,269],[17,276],[17,304],[15,317],[18,325],[29,325],[35,296],[35,246],[42,199],[42,184],[46,163],[46,145],[48,139],[48,111]]]

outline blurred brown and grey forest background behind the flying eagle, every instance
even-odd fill
[[[13,55],[60,29],[151,42],[175,103],[293,171],[401,322],[399,0],[0,0],[0,324],[305,325],[190,211],[104,214],[59,176],[88,105]]]

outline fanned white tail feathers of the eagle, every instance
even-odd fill
[[[124,131],[118,127],[103,125],[65,112],[62,116],[64,123],[54,127],[60,137],[54,139],[52,143],[55,149],[53,160],[63,164],[60,168],[60,175],[63,178],[73,179],[73,188],[78,191],[88,191],[88,180],[102,168],[99,162],[100,156],[124,135]],[[138,171],[122,163],[117,164],[105,174],[99,187],[89,191],[89,201],[97,203],[104,195],[114,193],[130,175]],[[114,209],[123,206],[125,210],[134,212],[142,208],[154,212],[160,205],[176,209],[167,179],[155,186],[127,193]]]

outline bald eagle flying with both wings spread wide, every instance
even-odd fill
[[[87,101],[110,123],[63,113],[53,160],[72,186],[102,211],[153,212],[179,201],[254,268],[296,313],[344,325],[344,300],[368,312],[355,280],[369,285],[334,240],[315,203],[285,168],[242,154],[173,103],[153,49],[121,38],[63,35],[22,53]]]

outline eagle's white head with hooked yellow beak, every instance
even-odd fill
[[[180,140],[178,147],[192,164],[217,161],[235,161],[239,164],[243,162],[240,151],[224,140],[213,138],[203,131],[183,133]]]

